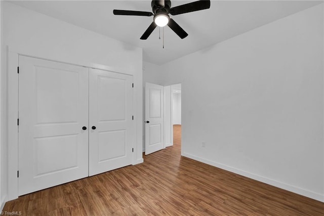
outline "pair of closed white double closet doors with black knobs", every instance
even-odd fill
[[[132,79],[19,56],[19,195],[132,163]]]

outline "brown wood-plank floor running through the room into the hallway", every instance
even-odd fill
[[[7,202],[22,215],[324,215],[324,203],[180,156],[174,146],[144,163]]]

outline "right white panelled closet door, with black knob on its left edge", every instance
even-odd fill
[[[89,74],[89,175],[132,164],[133,77],[105,70]]]

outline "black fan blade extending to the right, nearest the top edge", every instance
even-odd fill
[[[171,15],[178,15],[178,14],[184,14],[184,13],[189,13],[193,11],[200,11],[200,10],[205,10],[209,9],[211,7],[211,1],[196,1],[192,3],[188,3],[185,5],[180,5],[174,8],[170,9],[170,14]]]

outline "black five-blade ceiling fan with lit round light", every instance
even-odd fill
[[[152,1],[152,12],[144,12],[144,11],[125,11],[125,10],[113,10],[114,15],[130,15],[130,16],[153,16],[153,22],[148,26],[146,31],[143,33],[141,40],[146,40],[156,26],[164,27],[168,25],[181,39],[184,39],[188,36],[187,32],[183,30],[172,18],[171,15],[178,15],[189,13],[193,11],[200,11],[209,9],[211,6],[210,0],[208,1],[196,1],[192,3],[188,3],[185,5],[180,5],[174,8],[171,8],[170,0],[160,0],[160,1]]]

